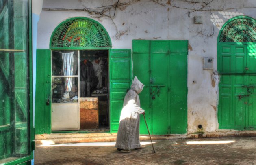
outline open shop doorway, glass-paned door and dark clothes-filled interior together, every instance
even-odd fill
[[[108,50],[52,51],[52,131],[109,131]]]

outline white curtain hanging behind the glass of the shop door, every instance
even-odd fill
[[[64,76],[73,75],[74,52],[61,53]],[[72,77],[65,78],[65,93],[69,93],[72,87]]]

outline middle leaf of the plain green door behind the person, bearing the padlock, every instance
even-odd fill
[[[169,133],[168,102],[169,41],[150,43],[150,97],[152,108],[152,134]]]

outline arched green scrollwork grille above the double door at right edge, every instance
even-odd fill
[[[219,42],[256,42],[256,21],[237,18],[224,25]]]

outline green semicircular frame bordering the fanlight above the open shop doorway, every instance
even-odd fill
[[[59,28],[61,27],[61,25],[63,25],[64,23],[67,23],[68,21],[73,21],[73,20],[76,20],[76,19],[83,19],[85,21],[91,21],[97,25],[99,25],[99,27],[101,28],[101,30],[106,33],[106,36],[107,36],[107,39],[108,39],[108,42],[109,42],[109,45],[108,46],[105,46],[105,47],[92,47],[92,46],[79,46],[79,47],[53,47],[52,46],[52,40],[54,38],[54,35],[55,33],[57,32],[57,30],[59,30]],[[55,29],[54,31],[52,32],[52,35],[51,35],[51,38],[50,38],[50,45],[49,45],[50,49],[111,49],[112,47],[112,43],[111,43],[111,39],[108,35],[108,32],[106,31],[106,29],[100,24],[98,23],[97,21],[93,20],[93,19],[89,19],[87,17],[73,17],[73,18],[69,18],[63,22],[61,22]]]

